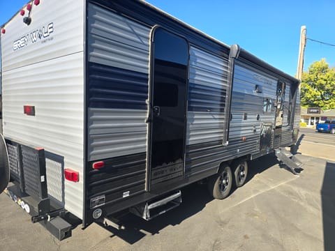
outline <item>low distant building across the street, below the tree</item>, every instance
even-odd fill
[[[335,120],[335,109],[322,110],[320,108],[301,107],[301,122],[307,127],[314,127],[316,123],[324,123],[326,120]]]

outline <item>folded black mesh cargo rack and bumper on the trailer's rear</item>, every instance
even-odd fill
[[[59,240],[71,236],[72,225],[62,218],[67,213],[64,209],[64,164],[44,149],[10,140],[6,140],[6,144],[13,180],[4,191],[6,195],[32,216],[33,223],[40,222]],[[50,158],[52,165],[47,164]],[[49,176],[47,165],[50,165]]]

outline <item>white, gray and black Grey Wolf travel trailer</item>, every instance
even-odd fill
[[[150,220],[188,184],[223,199],[249,160],[293,162],[299,81],[145,1],[29,1],[1,77],[1,190],[59,239],[67,214]]]

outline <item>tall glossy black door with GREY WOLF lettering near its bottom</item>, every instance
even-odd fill
[[[188,43],[156,29],[151,82],[150,190],[184,176]]]

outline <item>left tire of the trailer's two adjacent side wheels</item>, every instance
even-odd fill
[[[232,190],[232,170],[228,165],[221,167],[218,174],[211,176],[208,182],[208,190],[214,199],[225,199]]]

